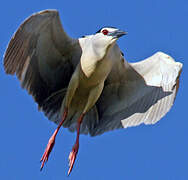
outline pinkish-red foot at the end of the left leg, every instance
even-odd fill
[[[52,137],[49,139],[46,149],[44,151],[44,154],[42,155],[42,158],[40,160],[40,162],[42,162],[41,167],[40,167],[41,171],[44,166],[44,163],[48,161],[48,157],[54,147],[54,144],[55,144],[55,135],[53,134]]]

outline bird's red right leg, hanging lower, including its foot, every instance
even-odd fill
[[[77,136],[76,136],[76,142],[72,148],[72,151],[69,154],[69,171],[68,171],[68,175],[71,173],[75,159],[76,159],[76,155],[78,153],[78,149],[79,149],[79,135],[80,135],[80,125],[82,123],[82,120],[84,118],[84,114],[81,114],[81,116],[78,119],[78,126],[77,126]]]

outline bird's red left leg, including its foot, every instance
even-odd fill
[[[44,151],[44,154],[42,155],[42,158],[40,160],[40,162],[42,162],[41,164],[41,167],[40,167],[40,170],[42,170],[43,166],[44,166],[44,163],[48,161],[48,157],[53,149],[53,146],[55,144],[55,138],[56,138],[56,135],[60,129],[60,127],[62,126],[63,122],[65,121],[66,117],[67,117],[67,114],[68,114],[68,109],[65,108],[64,110],[64,113],[63,113],[63,117],[62,117],[62,120],[61,122],[59,123],[57,129],[54,131],[53,135],[51,136],[51,138],[49,139],[48,141],[48,144],[46,146],[46,149]]]

